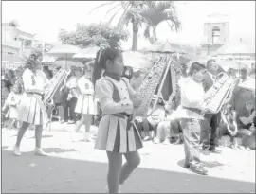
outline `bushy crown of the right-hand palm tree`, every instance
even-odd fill
[[[181,23],[178,19],[174,1],[146,1],[146,9],[140,12],[145,24],[144,36],[152,44],[157,41],[156,27],[167,22],[171,30],[178,30]]]

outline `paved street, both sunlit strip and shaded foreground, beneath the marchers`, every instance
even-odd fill
[[[53,132],[45,132],[43,139],[48,157],[33,155],[34,138],[24,138],[23,154],[15,157],[11,150],[16,132],[4,131],[2,192],[103,192],[107,172],[105,153],[94,150],[94,143],[73,143],[66,128],[57,123],[52,126]],[[147,142],[144,147],[140,150],[141,165],[122,186],[122,192],[255,193],[255,151],[224,148],[221,155],[203,155],[209,176],[200,176],[181,167],[184,157],[182,145]]]

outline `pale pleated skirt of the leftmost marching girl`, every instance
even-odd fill
[[[42,97],[24,93],[18,108],[18,120],[34,125],[46,124],[46,106],[43,104]]]

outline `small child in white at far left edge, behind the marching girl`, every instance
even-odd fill
[[[21,99],[21,88],[19,87],[19,85],[15,84],[12,87],[11,92],[9,93],[9,96],[7,97],[5,105],[3,107],[3,109],[5,109],[5,107],[9,108],[9,111],[6,115],[6,117],[9,119],[9,130],[12,129],[12,127],[14,127],[16,124],[16,121],[18,118],[17,107],[19,106],[20,99]]]

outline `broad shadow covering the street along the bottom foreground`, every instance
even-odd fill
[[[103,153],[102,153],[103,154]],[[14,157],[2,151],[3,193],[102,193],[105,163],[58,157]],[[255,183],[137,168],[123,193],[255,193]]]

